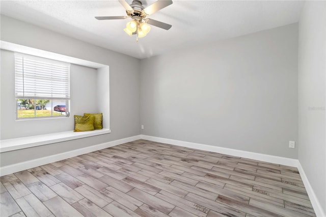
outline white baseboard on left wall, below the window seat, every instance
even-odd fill
[[[64,153],[60,153],[60,154],[55,154],[55,155],[41,157],[41,158],[37,158],[37,159],[33,159],[33,160],[19,162],[17,164],[1,167],[0,168],[0,176],[5,176],[5,175],[11,174],[11,173],[16,173],[16,172],[19,172],[22,170],[39,167],[42,165],[50,164],[51,162],[56,162],[59,160],[70,158],[70,157],[90,153],[93,151],[98,151],[98,150],[101,150],[104,148],[110,148],[110,147],[113,147],[116,145],[132,142],[132,141],[139,140],[139,139],[141,139],[140,135],[135,135],[134,137],[128,137],[128,138],[115,140],[115,141],[111,141],[111,142],[107,142],[107,143],[102,143],[102,144],[98,144],[98,145],[93,145],[93,146],[89,146],[89,147],[85,147],[85,148],[80,148],[80,149],[76,149],[76,150],[72,150],[72,151],[68,151],[68,152],[64,152]]]

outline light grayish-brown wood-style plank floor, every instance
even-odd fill
[[[296,168],[138,140],[1,177],[1,216],[315,216]]]

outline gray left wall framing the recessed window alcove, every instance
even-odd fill
[[[140,134],[140,60],[6,16],[1,16],[1,40],[110,66],[112,130],[95,137],[1,153],[2,167]]]

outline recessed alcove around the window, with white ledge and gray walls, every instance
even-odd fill
[[[71,64],[69,118],[16,120],[15,52]],[[1,57],[5,59],[7,64],[1,66],[1,77],[6,77],[6,83],[1,83],[2,126],[0,152],[111,132],[109,66],[5,41],[1,41]],[[103,129],[73,132],[73,116],[84,115],[84,113],[103,113]]]

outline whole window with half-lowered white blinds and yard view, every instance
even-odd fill
[[[15,53],[17,119],[69,117],[70,64]]]

